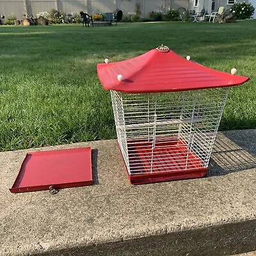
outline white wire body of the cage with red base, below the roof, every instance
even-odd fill
[[[228,87],[168,93],[111,90],[118,146],[132,184],[202,177]]]

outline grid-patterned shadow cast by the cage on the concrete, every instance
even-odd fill
[[[253,152],[248,152],[248,148],[244,150],[223,133],[218,134],[212,148],[209,171],[205,177],[222,176],[252,168],[256,168],[256,157],[253,156]]]

